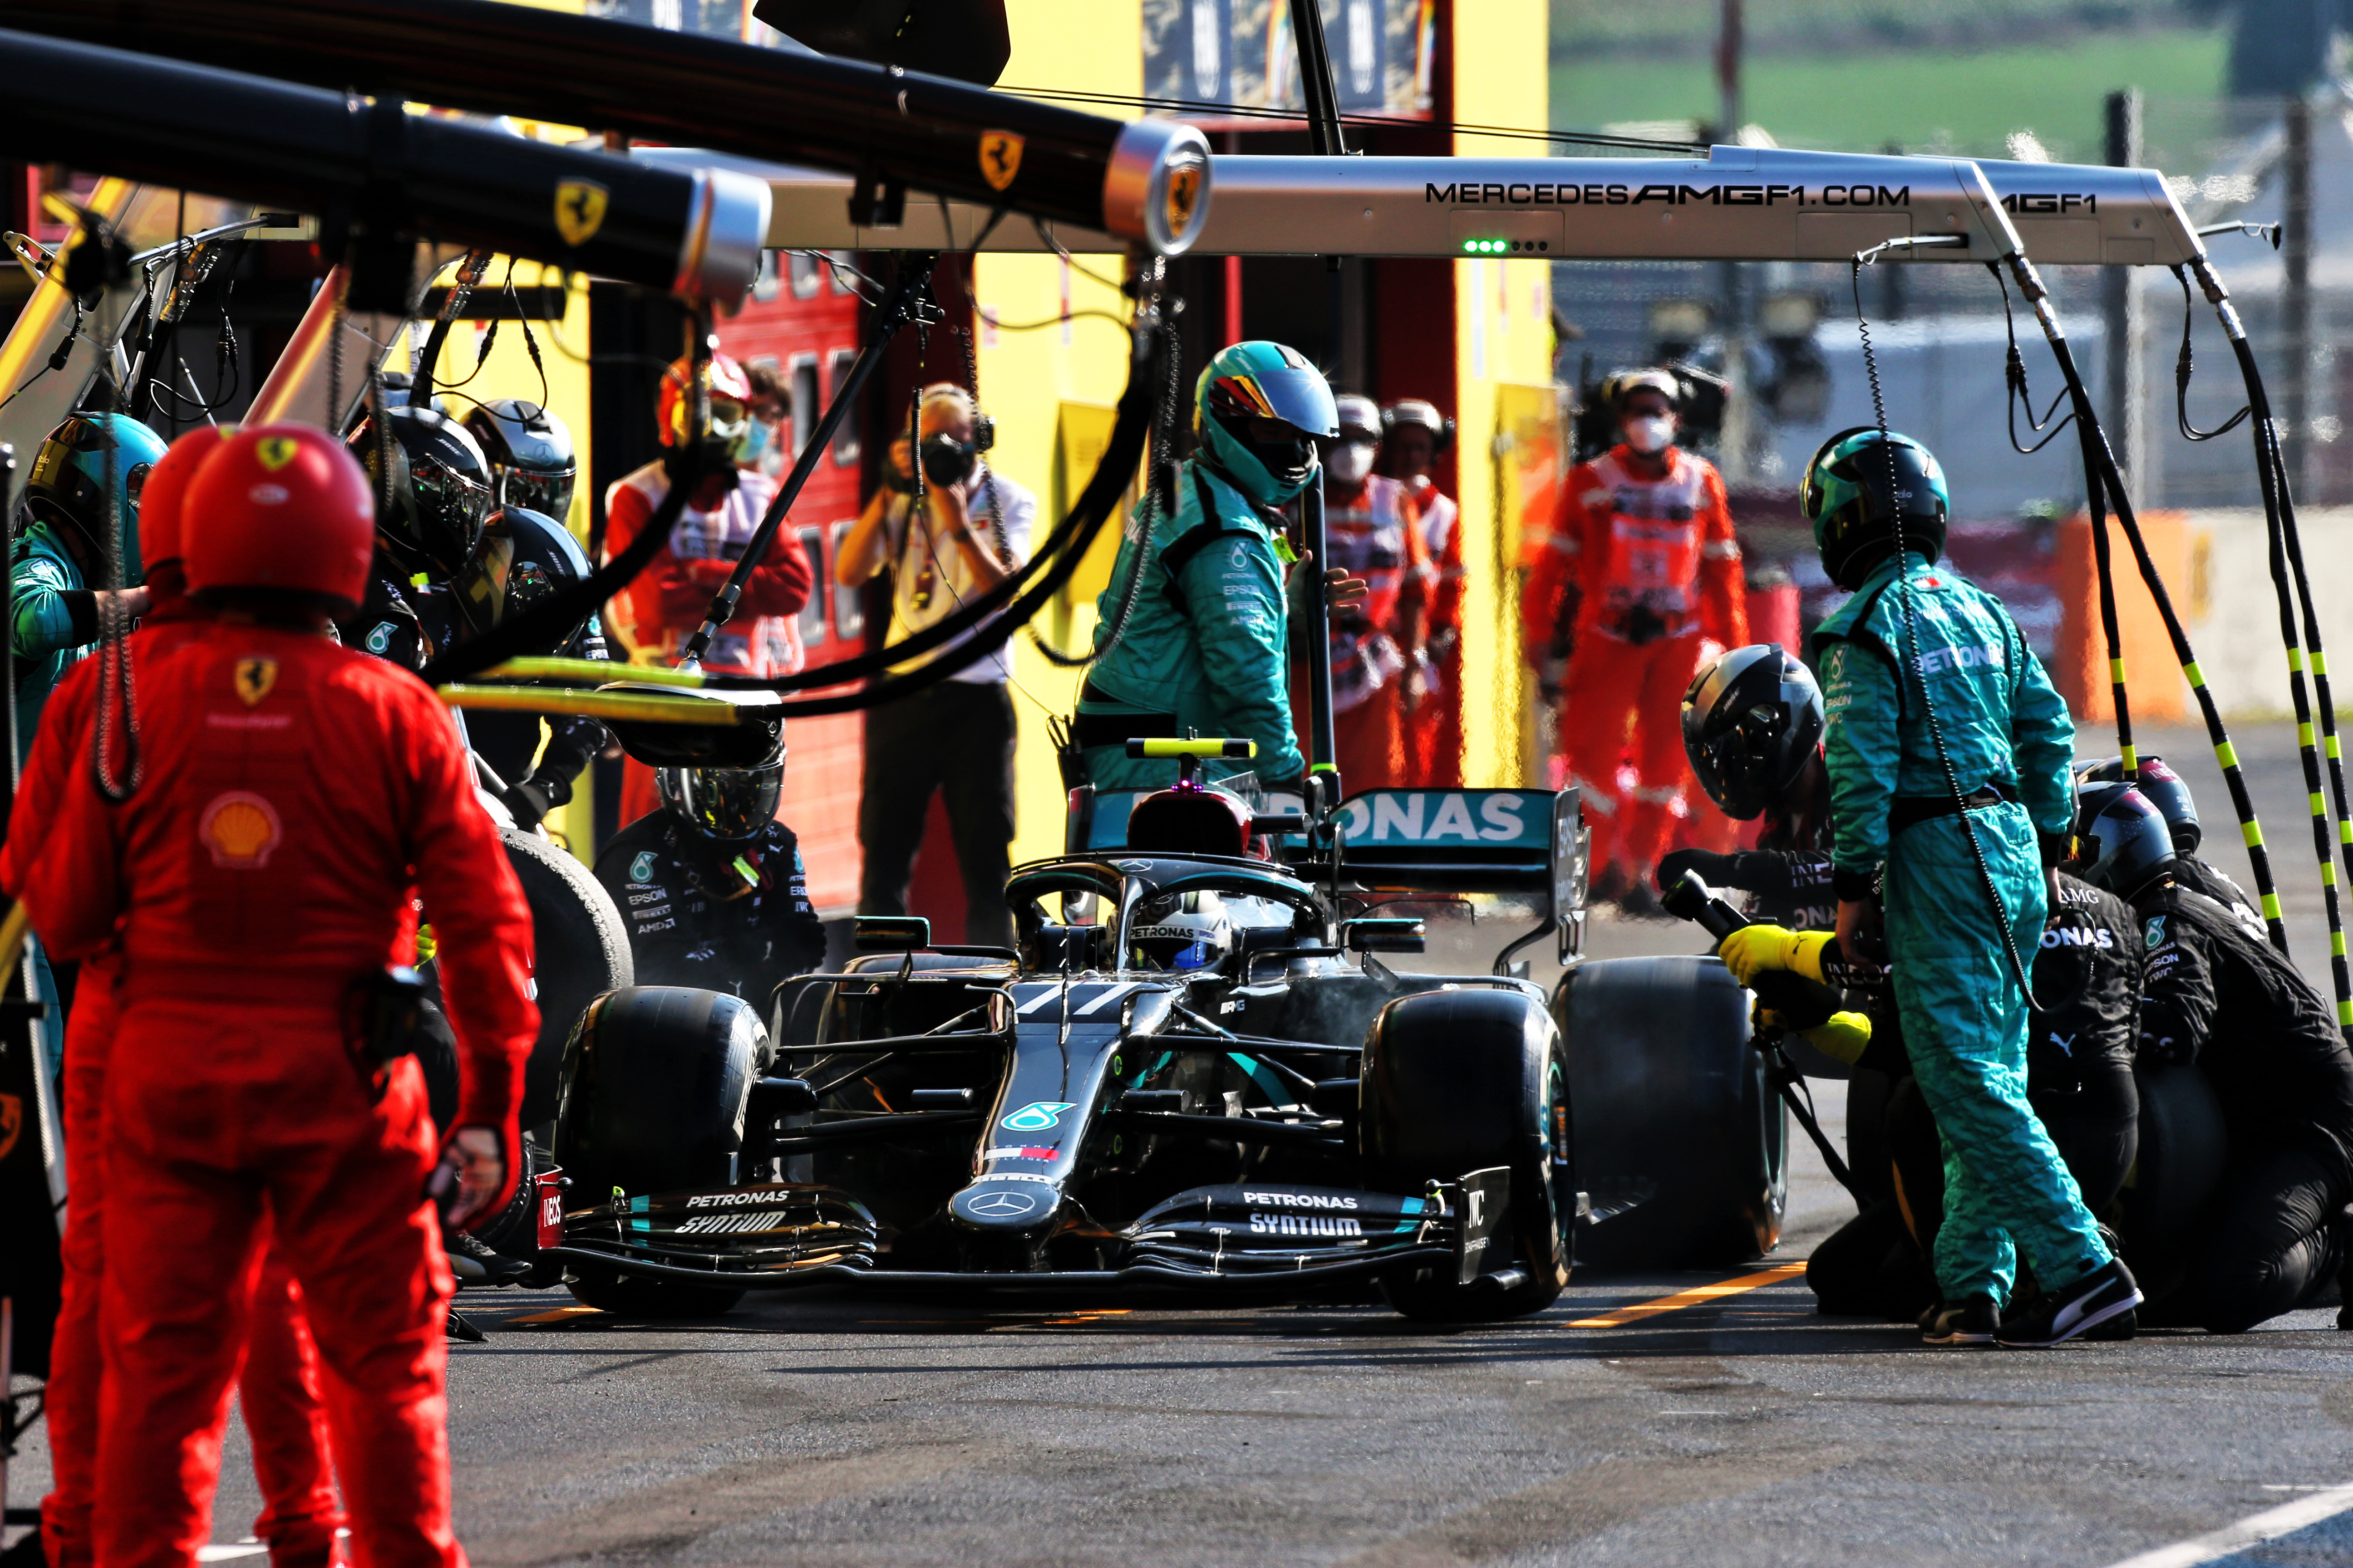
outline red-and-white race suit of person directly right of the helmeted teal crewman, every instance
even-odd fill
[[[1332,616],[1332,729],[1339,780],[1351,795],[1407,778],[1405,701],[1400,693],[1409,621],[1431,602],[1431,552],[1405,487],[1365,480],[1351,503],[1325,510],[1332,564],[1365,578],[1365,602]]]

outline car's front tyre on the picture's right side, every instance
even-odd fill
[[[1511,1171],[1513,1286],[1384,1279],[1388,1305],[1428,1324],[1485,1324],[1544,1312],[1569,1281],[1565,1213],[1567,1079],[1560,1032],[1518,990],[1461,987],[1400,997],[1365,1041],[1362,1154],[1369,1180],[1421,1192],[1471,1171]]]

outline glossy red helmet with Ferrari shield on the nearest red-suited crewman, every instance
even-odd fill
[[[376,498],[360,463],[311,425],[247,425],[205,458],[181,501],[188,592],[325,599],[367,595]]]

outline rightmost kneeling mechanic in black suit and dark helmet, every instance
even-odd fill
[[[2353,1201],[2353,1051],[2327,999],[2261,929],[2174,884],[2165,818],[2129,785],[2085,788],[2075,844],[2085,875],[2146,922],[2141,1063],[2195,1063],[2228,1131],[2181,1286],[2151,1321],[2240,1333],[2322,1305]]]

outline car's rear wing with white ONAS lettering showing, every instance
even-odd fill
[[[1339,809],[1339,882],[1360,893],[1532,893],[1560,957],[1584,947],[1577,790],[1365,790]]]

